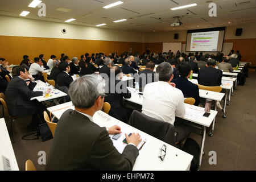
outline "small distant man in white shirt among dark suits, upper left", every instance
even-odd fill
[[[35,78],[35,80],[41,80],[44,81],[44,77],[42,75],[44,71],[42,60],[39,57],[34,58],[35,63],[30,65],[30,69],[28,72],[30,72],[30,75]]]

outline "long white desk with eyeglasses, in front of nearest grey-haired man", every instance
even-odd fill
[[[64,113],[64,111],[68,109],[74,109],[72,102],[67,102],[65,104],[47,108],[47,110],[50,111],[53,115],[55,115],[57,119],[59,119],[61,115]],[[101,112],[102,111],[97,111],[97,113],[101,113]],[[183,152],[178,148],[175,148],[170,144],[167,144],[159,139],[156,139],[151,135],[143,133],[142,131],[135,129],[134,127],[127,125],[126,123],[123,123],[118,119],[111,117],[110,115],[108,115],[109,117],[108,120],[104,121],[103,119],[97,117],[97,113],[94,114],[93,116],[93,121],[97,123],[97,125],[105,126],[105,127],[118,125],[118,126],[121,126],[121,131],[122,131],[122,127],[126,127],[126,128],[129,128],[129,130],[133,130],[135,133],[139,133],[141,135],[146,136],[146,138],[149,140],[149,142],[146,142],[144,144],[142,150],[139,151],[139,156],[135,161],[133,171],[189,170],[191,161],[193,159],[192,155],[187,154],[186,152]],[[124,135],[125,134],[122,133],[121,137],[118,139],[120,142],[122,142]],[[167,146],[167,150],[166,150],[167,153],[166,153],[166,157],[164,158],[164,161],[162,162],[158,158],[158,152],[163,144]]]

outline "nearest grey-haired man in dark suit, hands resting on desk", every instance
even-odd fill
[[[69,94],[75,110],[65,111],[59,119],[46,170],[133,169],[139,155],[140,135],[133,133],[128,137],[125,134],[128,144],[120,154],[109,134],[121,133],[121,128],[117,125],[100,127],[93,122],[94,113],[104,104],[104,88],[98,89],[103,85],[100,80],[96,75],[86,75],[72,82]]]

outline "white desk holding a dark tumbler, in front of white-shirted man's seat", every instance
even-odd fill
[[[137,105],[142,106],[143,104],[143,96],[140,96],[138,94],[138,92],[134,92],[134,88],[128,88],[131,92],[131,98],[124,98],[124,100],[135,103]],[[154,104],[154,103],[152,103]],[[198,106],[193,106],[193,105],[189,105],[189,104],[184,104],[185,105],[185,110],[186,110],[186,114],[184,115],[184,117],[181,117],[182,119],[185,119],[186,121],[189,121],[193,124],[196,124],[197,126],[200,126],[200,129],[202,131],[202,140],[201,140],[201,151],[200,151],[200,162],[199,162],[199,166],[201,166],[201,162],[202,162],[202,156],[203,156],[203,150],[204,150],[204,142],[205,142],[205,128],[206,127],[210,127],[210,125],[212,124],[214,118],[217,115],[217,111],[216,110],[210,110],[210,115],[208,118],[206,117],[200,117],[200,118],[191,118],[191,117],[187,117],[187,111],[189,109],[195,109],[195,110],[200,110],[200,111],[204,111],[203,107],[198,107]],[[200,168],[200,167],[199,167]]]

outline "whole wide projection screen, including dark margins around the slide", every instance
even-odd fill
[[[222,51],[225,27],[189,30],[187,34],[187,52],[218,52]]]

